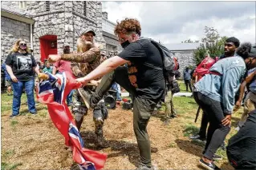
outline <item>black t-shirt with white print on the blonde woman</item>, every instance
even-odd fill
[[[31,53],[10,53],[6,57],[6,65],[11,67],[19,81],[28,81],[34,77],[33,67],[36,62]]]

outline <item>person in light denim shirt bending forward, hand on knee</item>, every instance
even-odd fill
[[[240,51],[238,49],[238,56],[217,61],[209,73],[194,85],[193,97],[209,117],[207,141],[199,163],[210,170],[217,169],[213,163],[214,154],[230,132],[235,93],[238,92],[246,69],[256,65],[254,53],[249,51],[245,55]]]

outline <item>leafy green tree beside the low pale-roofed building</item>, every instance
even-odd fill
[[[221,37],[213,27],[205,26],[205,37],[201,39],[201,44],[193,52],[194,61],[200,63],[205,58],[205,53],[209,51],[209,57],[217,57],[224,53],[224,43],[226,36]]]

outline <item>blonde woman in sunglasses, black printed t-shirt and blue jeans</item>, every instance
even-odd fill
[[[19,114],[22,89],[24,87],[28,109],[30,113],[36,114],[33,89],[35,87],[34,74],[39,73],[39,69],[36,66],[35,58],[29,53],[25,41],[18,40],[15,42],[12,53],[6,57],[6,70],[10,74],[14,90],[12,115],[10,117],[16,117]]]

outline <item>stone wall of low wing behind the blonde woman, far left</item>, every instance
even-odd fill
[[[22,38],[30,48],[30,25],[1,17],[1,59],[6,60],[14,43]]]

